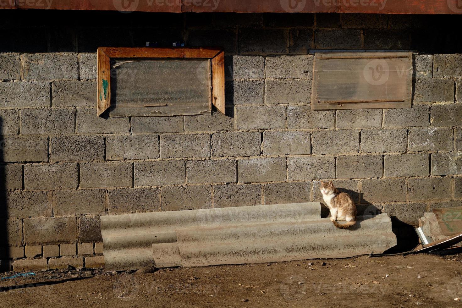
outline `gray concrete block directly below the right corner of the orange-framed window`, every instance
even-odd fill
[[[133,125],[133,118],[132,118]],[[231,131],[234,127],[234,109],[225,109],[225,115],[219,111],[212,111],[212,115],[184,116],[184,130],[186,132],[216,132]],[[181,130],[179,130],[181,131]]]

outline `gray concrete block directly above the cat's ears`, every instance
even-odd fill
[[[335,178],[335,157],[287,157],[289,181]]]

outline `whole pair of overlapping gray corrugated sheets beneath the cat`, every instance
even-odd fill
[[[320,213],[320,203],[300,203],[102,216],[105,268],[345,258],[396,245],[387,214],[343,230]]]

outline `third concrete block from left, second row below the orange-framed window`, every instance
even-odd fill
[[[158,135],[106,137],[106,160],[157,159],[158,157]]]

